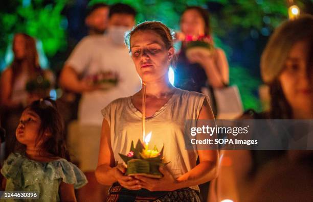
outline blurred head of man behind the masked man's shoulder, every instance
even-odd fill
[[[94,4],[87,9],[85,24],[88,35],[104,34],[108,26],[109,6],[103,3]]]

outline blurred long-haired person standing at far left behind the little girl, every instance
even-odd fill
[[[49,95],[54,85],[54,74],[39,66],[36,41],[33,37],[18,33],[13,38],[14,59],[0,79],[0,106],[3,126],[7,130],[6,156],[11,153],[12,136],[23,107],[33,100]]]

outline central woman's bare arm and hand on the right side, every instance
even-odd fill
[[[212,110],[205,99],[198,119],[214,119]],[[217,177],[217,150],[198,150],[200,163],[182,176],[174,179],[165,167],[160,167],[164,177],[160,180],[136,175],[140,185],[150,191],[173,191],[211,181]]]

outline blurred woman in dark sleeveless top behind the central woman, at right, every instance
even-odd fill
[[[189,59],[186,57],[188,38],[211,37],[209,12],[202,7],[188,7],[181,17],[181,31],[176,35],[177,40],[182,41],[182,48],[178,54],[174,86],[201,92],[201,87],[207,84],[212,87],[228,85],[229,67],[222,49],[215,48],[210,56],[194,53]]]

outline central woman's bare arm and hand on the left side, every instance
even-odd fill
[[[131,176],[125,176],[126,168],[119,164],[116,167],[113,150],[111,147],[110,127],[108,122],[103,119],[98,167],[96,169],[96,178],[100,184],[112,185],[115,182],[119,182],[121,186],[127,189],[140,189],[136,180]]]

